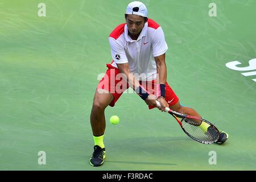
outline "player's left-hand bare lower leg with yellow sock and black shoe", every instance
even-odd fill
[[[93,131],[94,147],[90,158],[90,165],[101,166],[106,158],[106,150],[103,142],[106,128],[105,114],[106,107],[112,102],[113,95],[106,90],[97,89],[93,99],[90,124]]]

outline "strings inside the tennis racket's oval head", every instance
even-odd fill
[[[207,122],[199,121],[199,119],[183,118],[181,123],[183,129],[191,135],[192,138],[204,142],[213,142],[218,139],[218,131]]]

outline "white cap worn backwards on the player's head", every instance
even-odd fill
[[[126,14],[147,17],[147,7],[139,1],[133,1],[127,6]]]

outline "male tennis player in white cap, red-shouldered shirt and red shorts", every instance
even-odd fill
[[[179,113],[201,117],[191,107],[182,106],[179,98],[166,81],[166,51],[164,32],[158,23],[148,19],[147,7],[138,1],[129,3],[125,14],[126,23],[117,26],[109,35],[112,63],[99,82],[90,114],[94,151],[92,166],[101,166],[105,159],[104,133],[105,108],[114,106],[118,98],[131,87],[146,102],[149,109],[160,102],[158,109],[170,107]],[[121,85],[121,86],[120,86]],[[217,143],[222,144],[228,134],[221,132]]]

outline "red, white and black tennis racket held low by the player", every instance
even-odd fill
[[[156,105],[161,106],[160,102],[156,101]],[[188,137],[204,144],[216,143],[220,138],[220,131],[209,121],[195,117],[192,115],[178,113],[169,107],[166,107],[166,112],[171,114],[179,123],[181,129]],[[181,118],[181,121],[178,119]]]

